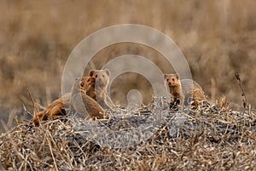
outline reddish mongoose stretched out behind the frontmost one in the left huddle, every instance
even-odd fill
[[[95,78],[94,77],[83,77],[82,82],[84,83],[84,88],[81,91],[87,92],[90,89],[91,85],[94,85]],[[88,89],[86,89],[88,88]],[[67,113],[65,111],[65,107],[70,107],[70,99],[71,93],[64,94],[59,99],[53,101],[44,111],[39,111],[33,117],[33,123],[38,126],[40,120],[45,121],[49,118],[59,118],[61,116],[65,116]]]

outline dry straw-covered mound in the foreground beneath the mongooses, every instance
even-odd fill
[[[165,110],[166,99],[162,98],[155,98],[152,106],[151,111],[119,109],[108,121],[84,120],[70,114],[62,121],[44,122],[38,128],[32,127],[31,122],[21,122],[0,136],[2,169],[253,170],[256,167],[255,111],[239,112],[201,104],[197,109],[180,113]],[[145,123],[148,128],[137,129]],[[133,134],[120,134],[122,131]]]

